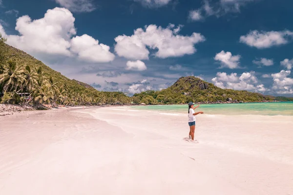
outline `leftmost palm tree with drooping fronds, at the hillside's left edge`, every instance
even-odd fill
[[[4,66],[3,73],[0,75],[0,84],[3,85],[4,91],[13,91],[21,88],[24,80],[23,70],[19,70],[16,62],[9,60],[7,66]]]

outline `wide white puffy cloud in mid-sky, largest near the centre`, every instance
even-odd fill
[[[127,59],[148,59],[149,51],[146,46],[157,49],[155,56],[163,59],[194,54],[194,44],[204,41],[205,38],[199,33],[193,33],[191,36],[178,35],[181,27],[182,25],[179,25],[174,29],[174,25],[170,24],[167,28],[162,28],[151,24],[145,29],[138,28],[130,37],[116,37],[115,51],[118,56]]]

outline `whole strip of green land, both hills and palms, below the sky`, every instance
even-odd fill
[[[9,46],[0,35],[0,103],[47,107],[80,105],[159,105],[196,103],[242,103],[292,101],[293,98],[265,96],[248,91],[221,89],[195,77],[179,78],[161,91],[126,96],[123,92],[100,92],[69,79],[42,61]],[[1,110],[0,110],[1,112]]]

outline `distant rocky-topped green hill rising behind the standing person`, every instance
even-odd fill
[[[134,94],[133,100],[136,103],[145,104],[181,104],[189,101],[201,103],[263,102],[271,101],[273,98],[248,91],[221,89],[200,78],[182,77],[162,91]]]

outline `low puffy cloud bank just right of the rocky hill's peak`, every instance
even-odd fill
[[[262,83],[255,77],[255,72],[245,72],[242,73],[240,77],[236,73],[218,72],[215,78],[211,81],[217,87],[223,89],[234,89],[234,90],[248,90],[254,92],[266,92],[269,89],[265,88]]]

